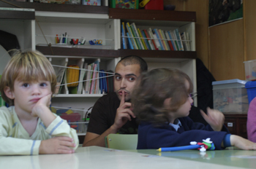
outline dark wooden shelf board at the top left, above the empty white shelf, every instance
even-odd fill
[[[81,5],[81,4],[45,4],[45,3],[25,2],[25,1],[7,1],[7,2],[8,4],[4,3],[3,1],[0,1],[0,7],[31,8],[31,9],[35,9],[36,11],[45,11],[45,12],[108,14],[108,7],[105,7],[105,6],[89,6],[89,5]]]

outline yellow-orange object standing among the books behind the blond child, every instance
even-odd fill
[[[70,67],[70,68],[67,68],[67,87],[77,87],[78,80],[79,80],[79,66],[70,65],[67,67]],[[77,83],[73,83],[73,82],[77,82]],[[69,83],[72,83],[72,84],[69,84]]]

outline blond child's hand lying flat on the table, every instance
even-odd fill
[[[75,150],[71,147],[76,145],[72,143],[73,139],[67,136],[61,136],[56,138],[50,138],[45,141],[41,141],[39,146],[39,154],[71,154]]]

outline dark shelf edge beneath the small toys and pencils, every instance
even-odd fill
[[[51,50],[52,49],[52,50]],[[44,55],[62,55],[62,56],[81,56],[81,57],[97,57],[97,58],[118,58],[118,50],[94,50],[81,48],[66,48],[66,47],[44,47],[37,46]]]

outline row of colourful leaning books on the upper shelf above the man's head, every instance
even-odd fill
[[[188,32],[163,31],[159,28],[140,30],[135,23],[121,24],[122,49],[190,51]]]

